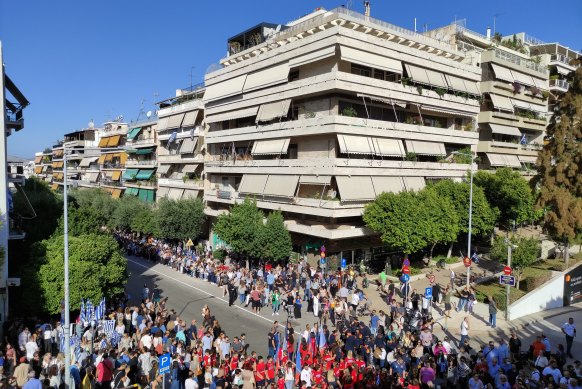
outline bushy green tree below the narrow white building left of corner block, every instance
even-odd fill
[[[167,239],[196,239],[202,232],[204,204],[200,199],[169,200],[162,198],[157,211],[158,233]]]

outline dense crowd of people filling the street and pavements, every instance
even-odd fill
[[[572,319],[562,327],[566,347],[553,347],[543,335],[522,344],[515,331],[477,345],[469,338],[468,312],[459,312],[465,318],[458,341],[439,339],[430,304],[444,304],[447,314],[453,308],[467,310],[467,304],[453,307],[450,286],[437,288],[430,301],[380,277],[385,308],[376,310],[354,269],[325,271],[305,261],[219,261],[210,250],[196,254],[131,235],[117,238],[128,254],[216,284],[229,305],[268,310],[275,321],[266,334],[267,347],[251,348],[244,333],[225,333],[211,307],[205,306],[199,317],[180,317],[166,307],[167,297],[146,284],[138,298],[110,302],[107,315],[115,320],[115,336],[77,324],[79,344],[71,368],[75,388],[579,388],[582,365],[571,354]],[[312,324],[298,324],[308,321],[298,320],[302,317],[312,317]],[[2,385],[60,388],[62,331],[60,323],[32,331],[14,323],[0,356]],[[160,375],[160,357],[166,353],[171,368]]]

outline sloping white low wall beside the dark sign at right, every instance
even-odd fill
[[[530,292],[509,306],[509,320],[564,306],[564,273]]]

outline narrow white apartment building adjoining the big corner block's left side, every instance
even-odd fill
[[[178,89],[158,103],[157,198],[202,197],[204,134],[203,85]]]

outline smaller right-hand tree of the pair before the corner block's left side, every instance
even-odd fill
[[[279,211],[271,212],[267,221],[259,227],[257,242],[258,257],[270,261],[282,261],[289,258],[293,249],[291,235],[285,227],[283,215]]]

